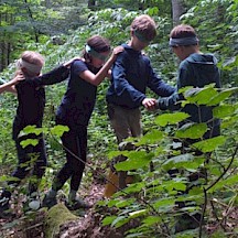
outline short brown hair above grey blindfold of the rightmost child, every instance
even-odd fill
[[[193,37],[197,36],[195,30],[187,24],[176,25],[170,33],[172,39]]]

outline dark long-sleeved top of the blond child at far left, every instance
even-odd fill
[[[50,73],[34,78],[26,78],[15,85],[18,91],[18,108],[13,122],[13,139],[29,125],[42,127],[45,107],[45,89],[43,85],[60,83],[68,77],[69,69],[60,66]]]

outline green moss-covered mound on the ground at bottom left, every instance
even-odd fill
[[[45,217],[45,238],[54,238],[60,232],[63,224],[75,219],[78,219],[78,217],[72,214],[63,204],[53,206]]]

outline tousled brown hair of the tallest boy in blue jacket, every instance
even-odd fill
[[[147,40],[152,41],[156,35],[156,24],[150,15],[141,14],[132,21],[131,31],[138,31]]]

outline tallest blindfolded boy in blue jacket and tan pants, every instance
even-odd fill
[[[174,88],[158,77],[150,60],[141,53],[155,34],[156,25],[153,19],[147,14],[137,17],[131,23],[130,42],[122,44],[125,51],[113,64],[106,99],[118,143],[128,137],[141,136],[140,107],[153,109],[155,106],[155,99],[145,96],[147,87],[162,97],[174,93]],[[126,187],[123,172],[119,173],[119,187]]]

